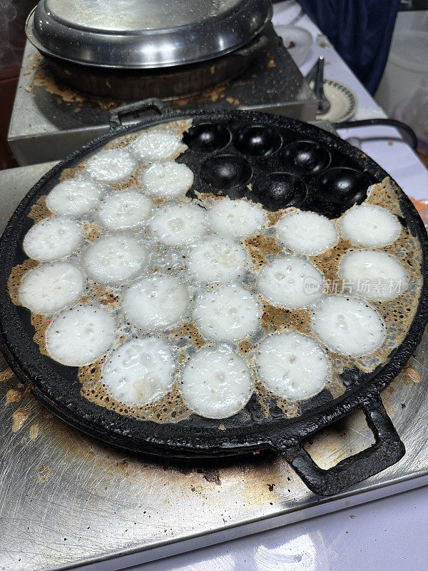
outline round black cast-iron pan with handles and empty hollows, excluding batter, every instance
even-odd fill
[[[148,107],[156,108],[159,116],[132,126],[121,125],[124,113]],[[111,116],[109,133],[83,146],[41,178],[4,231],[0,241],[1,349],[19,379],[30,385],[34,396],[47,408],[67,423],[107,443],[141,453],[199,458],[273,448],[285,456],[313,492],[332,495],[345,490],[396,463],[404,455],[404,445],[379,396],[407,363],[428,320],[427,233],[404,193],[399,193],[402,223],[421,248],[423,277],[417,313],[407,336],[372,373],[362,373],[356,368],[345,370],[341,375],[345,393],[333,398],[327,389],[323,390],[302,403],[296,418],[286,418],[275,400],[266,416],[255,395],[243,411],[220,421],[224,430],[218,430],[218,420],[198,415],[176,423],[155,423],[103,408],[81,394],[77,368],[65,367],[41,354],[33,340],[29,310],[11,302],[7,281],[11,269],[26,259],[21,244],[33,223],[27,215],[38,198],[58,183],[63,169],[77,166],[118,136],[185,118],[193,120],[193,127],[185,135],[188,151],[178,161],[187,163],[195,173],[190,194],[195,190],[210,188],[215,192],[221,188],[223,193],[237,198],[246,196],[248,183],[253,183],[251,200],[260,201],[268,210],[300,206],[336,217],[352,203],[364,200],[370,184],[387,176],[374,161],[340,138],[280,116],[248,111],[175,113],[156,100],[116,109]],[[254,126],[258,126],[256,131],[249,129]],[[287,162],[290,149],[302,144],[308,157],[306,171],[298,171]],[[366,415],[374,433],[374,445],[329,470],[322,470],[302,447],[302,440],[357,408]]]

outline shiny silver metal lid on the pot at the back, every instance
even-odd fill
[[[271,16],[270,0],[41,0],[26,35],[42,54],[66,61],[144,69],[227,54]]]

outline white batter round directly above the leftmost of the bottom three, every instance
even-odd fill
[[[188,307],[188,289],[175,276],[143,278],[126,290],[122,302],[126,319],[146,331],[177,325]]]

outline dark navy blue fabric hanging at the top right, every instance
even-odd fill
[[[366,89],[382,78],[400,0],[298,0]]]

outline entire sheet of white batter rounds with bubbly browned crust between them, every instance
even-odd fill
[[[82,394],[120,414],[228,418],[256,380],[265,415],[273,398],[336,398],[340,373],[382,364],[413,318],[420,262],[393,185],[337,221],[190,198],[194,174],[175,162],[189,127],[131,133],[68,172],[46,196],[55,216],[24,237],[12,300],[36,316],[41,350],[80,368]]]

